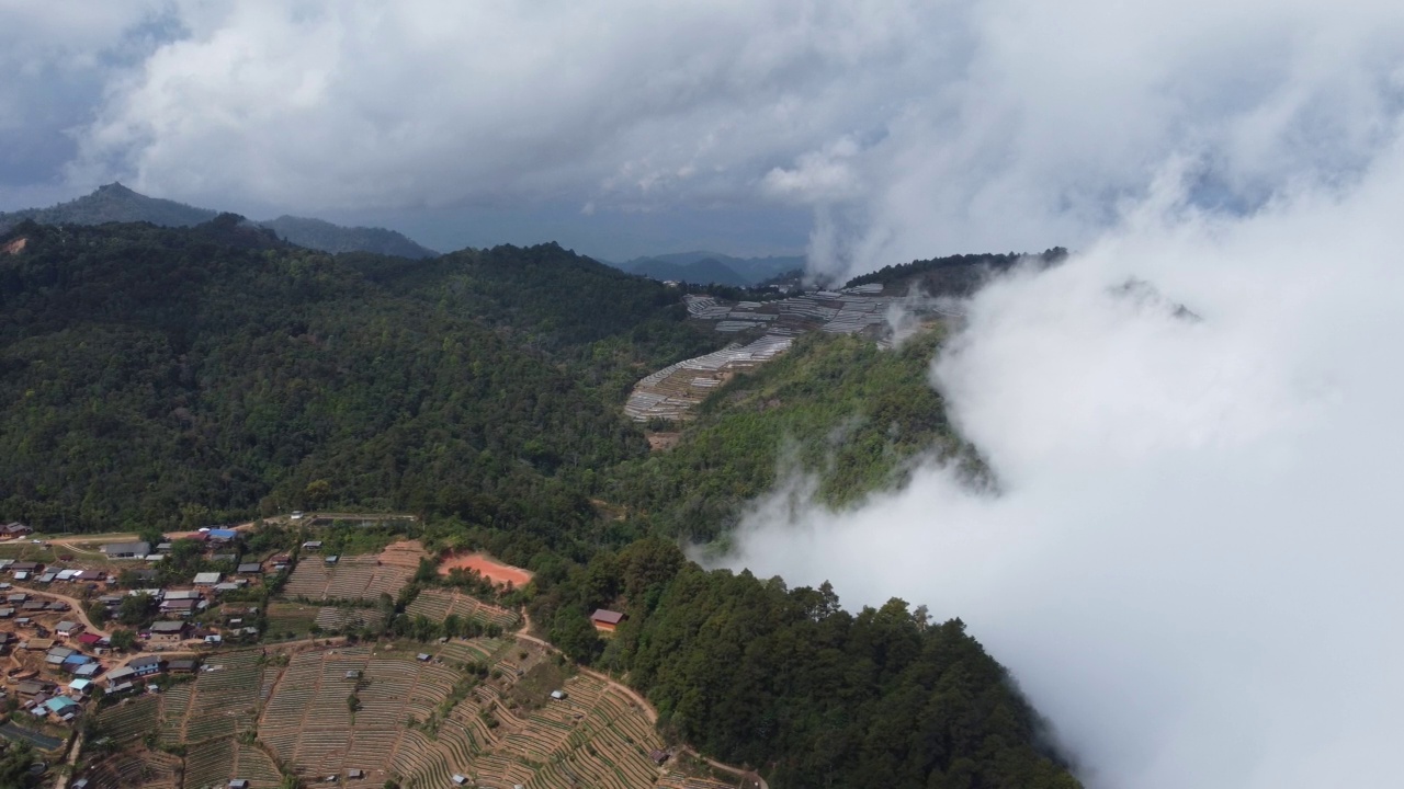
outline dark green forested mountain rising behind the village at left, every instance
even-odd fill
[[[715,343],[663,285],[555,244],[333,257],[236,216],[11,237],[0,510],[42,528],[355,503],[588,531],[566,477],[644,453],[636,365]]]

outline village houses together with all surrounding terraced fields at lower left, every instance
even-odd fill
[[[159,542],[0,526],[0,747],[27,744],[34,774],[65,789],[739,785],[670,748],[647,702],[577,671],[490,598],[423,588],[399,622],[432,633],[388,633],[383,601],[424,549],[395,538],[331,553],[330,526],[313,522],[333,519],[296,512]],[[476,553],[439,571],[531,581]],[[590,619],[608,637],[625,615]],[[463,625],[441,628],[451,622]]]

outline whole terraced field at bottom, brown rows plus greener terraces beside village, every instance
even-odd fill
[[[185,758],[138,747],[86,772],[93,785],[195,789],[241,778],[274,789],[281,764],[307,782],[364,769],[366,786],[396,779],[406,789],[449,788],[455,774],[477,786],[720,789],[657,768],[649,752],[664,743],[625,694],[588,675],[562,682],[569,670],[548,663],[548,650],[511,636],[326,646],[292,654],[285,667],[260,657],[211,656],[218,670],[105,710],[104,731],[131,731],[131,740],[154,729],[161,744],[183,744]],[[463,665],[497,671],[473,679]],[[566,698],[549,699],[553,687]],[[240,744],[249,730],[257,744]]]

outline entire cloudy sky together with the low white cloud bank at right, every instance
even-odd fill
[[[932,361],[998,494],[793,479],[724,563],[963,618],[1090,788],[1390,786],[1401,34],[1366,0],[0,0],[0,209],[119,180],[827,274],[1070,247]]]

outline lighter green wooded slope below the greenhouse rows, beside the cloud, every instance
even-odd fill
[[[803,337],[705,400],[675,448],[628,460],[609,497],[664,533],[710,541],[782,472],[817,475],[817,494],[833,505],[899,484],[921,452],[963,463],[979,482],[979,458],[927,383],[942,336],[932,327],[894,351],[858,337]]]

